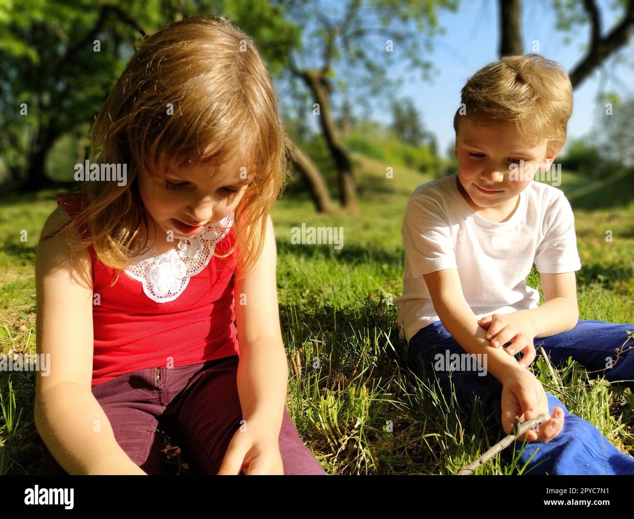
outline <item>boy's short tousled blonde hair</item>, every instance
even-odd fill
[[[547,151],[558,153],[573,113],[573,86],[557,61],[540,54],[507,56],[472,75],[460,103],[453,117],[456,136],[465,116],[476,125],[512,122],[531,143],[546,140]]]

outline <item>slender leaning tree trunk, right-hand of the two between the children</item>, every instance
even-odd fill
[[[302,78],[313,93],[316,103],[319,105],[319,121],[321,130],[326,138],[328,149],[337,167],[339,175],[339,200],[343,207],[356,210],[358,200],[354,187],[353,171],[347,150],[339,138],[339,132],[332,119],[330,100],[323,74],[318,70],[305,70]]]

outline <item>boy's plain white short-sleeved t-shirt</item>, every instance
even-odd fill
[[[560,189],[532,181],[506,222],[488,221],[460,195],[458,172],[422,184],[403,219],[403,295],[394,300],[406,340],[439,317],[423,274],[458,269],[462,291],[478,318],[536,308],[526,285],[533,263],[541,274],[581,268],[570,203]]]

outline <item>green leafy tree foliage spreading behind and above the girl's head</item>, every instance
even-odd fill
[[[224,14],[280,75],[301,34],[282,12],[265,0],[1,3],[0,151],[12,179],[50,185],[44,160],[56,139],[93,121],[145,35],[184,16]]]

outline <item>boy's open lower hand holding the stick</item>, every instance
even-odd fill
[[[502,381],[502,426],[504,432],[510,434],[513,430],[515,416],[524,414],[526,420],[533,420],[540,414],[548,416],[548,399],[544,388],[533,373],[526,369],[514,369]],[[564,410],[561,407],[553,409],[552,418],[543,421],[538,430],[529,430],[518,437],[519,440],[534,442],[550,442],[564,428]]]

